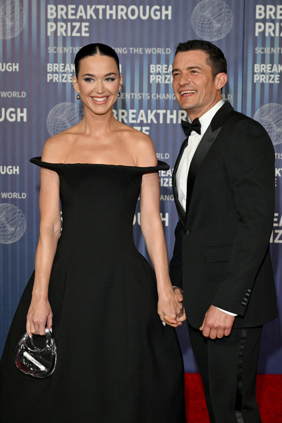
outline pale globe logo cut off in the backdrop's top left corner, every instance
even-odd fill
[[[25,12],[19,0],[0,0],[0,38],[17,36],[25,25]]]

